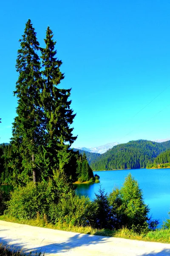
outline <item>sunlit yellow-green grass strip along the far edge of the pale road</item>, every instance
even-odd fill
[[[170,243],[170,229],[157,229],[155,231],[149,231],[148,233],[138,234],[131,230],[128,230],[127,228],[122,228],[121,230],[104,230],[104,229],[98,230],[90,226],[76,227],[76,226],[72,226],[71,224],[60,223],[60,222],[57,223],[56,225],[53,225],[53,224],[47,223],[47,221],[42,220],[40,218],[36,218],[34,220],[19,220],[17,218],[12,217],[11,215],[1,215],[0,220],[15,222],[19,224],[27,224],[27,225],[36,226],[36,227],[51,228],[55,230],[84,233],[84,234],[96,235],[96,236],[111,236],[111,237],[133,239],[133,240]]]

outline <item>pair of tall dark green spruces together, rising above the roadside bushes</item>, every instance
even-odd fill
[[[64,171],[70,178],[75,175],[74,153],[68,150],[77,138],[71,127],[75,114],[69,100],[71,89],[58,88],[64,75],[53,36],[48,27],[46,47],[41,48],[28,20],[20,39],[16,64],[19,76],[14,91],[18,99],[17,116],[13,123],[12,154],[6,157],[3,152],[4,163],[0,162],[2,182],[25,185],[32,179],[47,181],[56,170]]]

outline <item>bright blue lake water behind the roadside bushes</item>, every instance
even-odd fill
[[[145,204],[149,204],[150,215],[159,219],[161,224],[169,218],[170,212],[170,169],[132,169],[119,171],[94,172],[100,176],[100,183],[77,185],[77,194],[89,196],[92,200],[97,194],[99,186],[110,193],[114,186],[119,188],[123,185],[125,177],[131,173],[138,181],[143,191]]]

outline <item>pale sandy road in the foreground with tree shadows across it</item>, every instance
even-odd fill
[[[50,256],[170,256],[170,244],[91,236],[0,221],[0,243]]]

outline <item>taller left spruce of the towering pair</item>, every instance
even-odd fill
[[[20,49],[17,53],[16,70],[19,77],[14,95],[17,96],[18,106],[11,140],[17,156],[14,163],[16,172],[14,176],[17,176],[23,183],[30,180],[32,175],[33,181],[36,182],[39,172],[37,151],[43,144],[43,114],[40,107],[42,79],[38,50],[36,32],[29,19],[20,39]]]

